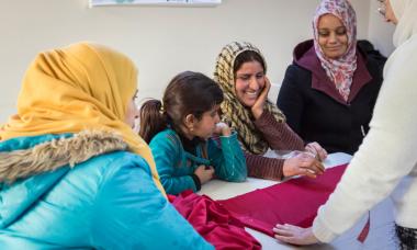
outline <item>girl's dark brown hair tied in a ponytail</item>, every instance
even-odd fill
[[[150,143],[168,125],[181,132],[187,115],[201,120],[204,112],[222,102],[223,92],[215,81],[200,72],[181,72],[169,82],[162,102],[149,100],[142,105],[139,135]]]

